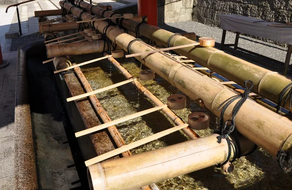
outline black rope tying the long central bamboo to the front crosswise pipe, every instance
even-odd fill
[[[247,83],[251,83],[251,86],[248,87],[247,86]],[[222,142],[222,139],[226,139],[227,141],[227,144],[228,144],[228,155],[227,155],[227,158],[226,158],[226,161],[224,163],[222,163],[222,165],[226,164],[230,157],[231,157],[231,149],[233,149],[233,146],[231,145],[231,140],[228,138],[229,134],[232,133],[236,128],[235,128],[235,117],[239,111],[239,109],[241,108],[241,106],[243,105],[243,103],[246,101],[247,98],[249,98],[249,94],[254,86],[254,83],[253,81],[251,80],[246,80],[244,82],[244,85],[245,85],[245,91],[244,93],[240,94],[240,95],[234,95],[230,98],[228,98],[227,100],[225,100],[224,102],[222,102],[220,105],[219,105],[219,108],[218,110],[222,107],[222,111],[221,111],[221,114],[220,114],[220,131],[218,131],[217,133],[219,133],[220,135],[217,136],[217,139],[218,139],[218,143],[221,143]],[[231,119],[228,119],[225,123],[224,123],[224,119],[223,119],[223,115],[224,115],[224,112],[226,111],[227,107],[235,100],[237,100],[238,98],[240,98],[240,100],[236,103],[236,105],[234,106],[233,110],[232,110],[232,117]],[[217,110],[217,111],[218,111]],[[230,125],[228,125],[228,123],[230,122]],[[235,156],[233,158],[233,161],[235,161],[235,159],[240,156],[238,155],[237,153],[237,150],[234,150],[235,151]],[[240,152],[240,150],[238,150],[238,152]]]

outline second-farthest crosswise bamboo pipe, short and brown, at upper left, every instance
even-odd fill
[[[60,32],[67,30],[78,30],[79,24],[76,22],[64,22],[57,24],[39,24],[39,34],[47,33],[47,32]]]

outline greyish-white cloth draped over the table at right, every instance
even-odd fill
[[[219,18],[223,30],[231,30],[292,44],[292,28],[269,26],[269,24],[280,24],[278,22],[268,22],[241,15],[219,15]]]

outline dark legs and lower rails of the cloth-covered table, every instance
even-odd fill
[[[236,38],[235,38],[235,43],[234,44],[224,44],[225,43],[225,38],[226,38],[226,30],[223,30],[223,33],[222,33],[222,38],[221,38],[221,46],[220,46],[220,50],[224,50],[224,47],[234,47],[233,49],[225,49],[226,51],[229,51],[231,52],[232,54],[234,55],[238,55],[238,56],[241,56],[241,57],[246,57],[245,54],[241,53],[241,52],[238,52],[237,50],[241,50],[243,52],[246,52],[246,53],[249,53],[249,54],[252,54],[252,55],[255,55],[257,57],[262,57],[262,58],[265,58],[267,60],[270,60],[270,61],[273,61],[273,62],[276,62],[276,63],[279,63],[281,65],[284,65],[284,70],[282,71],[283,72],[283,75],[284,76],[287,76],[287,73],[288,73],[288,70],[289,70],[289,63],[290,63],[290,59],[291,59],[291,54],[292,54],[292,45],[288,44],[288,50],[287,50],[287,54],[286,54],[286,59],[285,59],[285,62],[281,62],[281,61],[278,61],[278,60],[275,60],[273,58],[270,58],[270,57],[266,57],[266,56],[263,56],[263,55],[260,55],[260,54],[257,54],[255,52],[252,52],[252,51],[249,51],[249,50],[246,50],[246,49],[243,49],[243,48],[240,48],[238,47],[238,39],[239,39],[239,35],[240,35],[240,32],[236,32]],[[254,61],[259,61],[258,59],[255,59],[255,58],[252,58],[252,57],[248,57],[249,59],[252,59]],[[263,65],[266,65],[267,62],[263,62],[263,61],[260,61]],[[268,63],[269,64],[269,63]],[[269,67],[275,69],[275,70],[279,70],[278,67],[275,67],[274,65],[272,64],[269,64]]]

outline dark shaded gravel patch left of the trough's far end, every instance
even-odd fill
[[[30,34],[30,35],[20,36],[18,38],[13,38],[11,42],[10,51],[17,51],[19,46],[32,42],[32,41],[41,40],[41,39],[44,39],[44,37],[38,34],[38,32]]]

